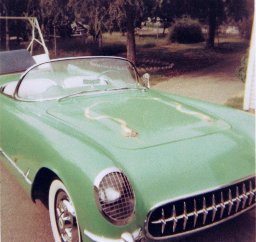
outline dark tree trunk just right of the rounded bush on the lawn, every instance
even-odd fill
[[[206,40],[206,48],[214,48],[214,38],[216,30],[216,1],[208,1],[209,4],[209,32]]]

